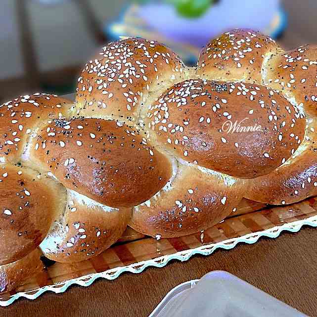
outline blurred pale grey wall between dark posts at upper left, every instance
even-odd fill
[[[80,9],[66,0],[52,6],[28,1],[40,71],[83,63],[96,49]],[[115,19],[125,0],[90,0],[100,22]],[[0,79],[23,75],[15,1],[0,0]]]

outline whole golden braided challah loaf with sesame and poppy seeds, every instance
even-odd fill
[[[126,39],[86,64],[75,104],[46,94],[4,103],[1,290],[39,268],[38,246],[82,261],[128,225],[177,237],[217,224],[242,197],[316,195],[316,57],[315,46],[284,52],[233,30],[189,68],[162,44]]]

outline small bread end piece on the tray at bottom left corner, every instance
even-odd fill
[[[22,285],[30,276],[44,269],[41,252],[35,249],[24,258],[0,266],[0,293],[10,292]]]

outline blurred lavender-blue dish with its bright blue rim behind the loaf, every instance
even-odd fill
[[[204,15],[185,18],[172,4],[150,1],[132,4],[118,21],[105,25],[111,40],[143,37],[156,40],[194,64],[200,49],[211,39],[233,28],[250,28],[276,38],[286,27],[286,14],[279,0],[219,0]]]

